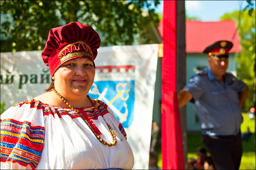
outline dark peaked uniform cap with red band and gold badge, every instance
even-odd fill
[[[203,53],[208,55],[214,55],[216,57],[228,57],[228,51],[233,47],[233,43],[226,40],[217,41],[207,46]]]

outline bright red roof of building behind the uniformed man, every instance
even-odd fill
[[[162,21],[158,31],[162,37]],[[237,25],[234,20],[202,22],[186,20],[186,53],[202,53],[205,47],[219,40],[233,43],[230,53],[241,52]]]

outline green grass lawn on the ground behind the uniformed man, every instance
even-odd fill
[[[242,141],[243,153],[241,158],[241,164],[239,169],[255,169],[255,120],[248,119],[248,115],[246,113],[242,114],[243,123],[241,124],[241,132],[245,133],[247,131],[247,127],[249,127],[252,135],[250,139],[246,141]],[[188,133],[187,134],[187,159],[190,157],[194,157],[196,159],[196,149],[200,146],[205,147],[202,141],[201,133]],[[162,167],[162,155],[161,152],[158,153],[158,167]]]

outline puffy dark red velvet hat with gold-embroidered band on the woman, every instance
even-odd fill
[[[71,22],[49,31],[42,58],[53,77],[61,64],[73,58],[86,57],[94,63],[99,47],[100,37],[91,26]]]

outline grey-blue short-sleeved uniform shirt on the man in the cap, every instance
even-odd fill
[[[230,73],[224,74],[221,82],[205,68],[193,75],[184,89],[193,96],[195,111],[204,135],[237,135],[243,118],[238,93],[246,84]]]

